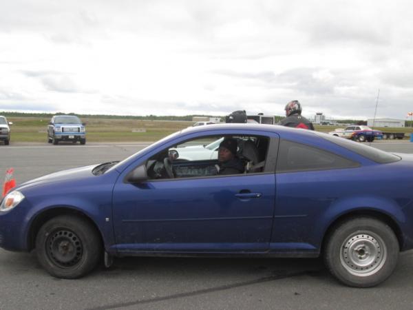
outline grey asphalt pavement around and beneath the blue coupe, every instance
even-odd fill
[[[148,143],[0,145],[0,179],[121,160]],[[413,143],[373,147],[413,153]],[[379,287],[341,285],[319,259],[118,258],[85,278],[49,276],[34,254],[0,249],[0,309],[413,309],[413,251]]]

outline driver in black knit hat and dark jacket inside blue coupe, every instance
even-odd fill
[[[234,138],[225,138],[218,149],[218,174],[242,174],[244,162],[237,156],[238,143]]]

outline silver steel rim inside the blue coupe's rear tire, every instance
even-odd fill
[[[387,257],[383,240],[373,234],[356,234],[349,236],[341,246],[341,265],[354,276],[370,276],[381,267]]]

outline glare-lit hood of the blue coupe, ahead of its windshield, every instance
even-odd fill
[[[96,167],[96,165],[90,165],[85,167],[78,167],[74,169],[67,169],[61,172],[54,172],[53,174],[46,174],[45,176],[41,176],[40,178],[34,178],[33,180],[29,180],[21,185],[19,185],[16,189],[24,189],[36,185],[43,185],[46,183],[57,183],[59,181],[67,181],[67,180],[77,180],[80,178],[87,178],[87,177],[96,177],[92,174],[92,169]]]

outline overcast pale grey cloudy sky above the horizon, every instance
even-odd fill
[[[0,0],[0,111],[405,119],[412,1]]]

